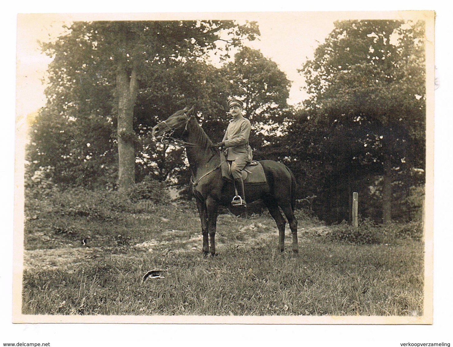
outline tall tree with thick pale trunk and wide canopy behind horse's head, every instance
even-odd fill
[[[79,125],[99,116],[116,127],[111,144],[117,143],[120,190],[135,180],[134,114],[140,91],[153,86],[149,77],[202,61],[219,43],[224,44],[225,55],[242,40],[259,35],[254,22],[212,20],[75,22],[67,31],[42,46],[53,61],[48,105],[37,121],[55,117],[62,118],[64,126],[69,121]]]

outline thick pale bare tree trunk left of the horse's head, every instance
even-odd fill
[[[125,191],[135,183],[134,106],[137,99],[137,75],[121,65],[116,73],[118,94],[118,190]]]

